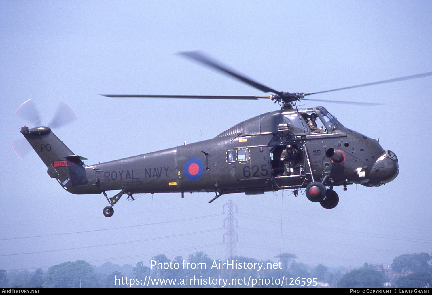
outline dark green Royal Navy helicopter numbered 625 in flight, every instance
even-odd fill
[[[149,154],[87,166],[51,132],[50,127],[21,133],[48,167],[48,175],[73,194],[103,194],[109,206],[106,217],[122,195],[133,199],[137,193],[215,192],[209,201],[229,193],[246,195],[292,189],[297,196],[304,188],[306,197],[322,207],[337,206],[335,186],[361,184],[380,186],[399,173],[396,155],[384,150],[377,140],[343,126],[324,107],[295,107],[311,94],[396,82],[432,75],[432,72],[372,82],[314,93],[276,91],[246,78],[200,51],[181,55],[221,71],[264,92],[267,96],[190,96],[190,95],[114,95],[106,97],[153,97],[199,99],[270,99],[280,110],[248,119],[215,138],[168,148]],[[316,100],[326,101],[326,100]],[[327,100],[328,101],[328,100]],[[334,102],[334,101],[332,101]],[[353,104],[352,102],[340,102]],[[369,103],[354,103],[375,105]],[[322,128],[318,128],[321,125]],[[107,191],[120,190],[108,197]]]

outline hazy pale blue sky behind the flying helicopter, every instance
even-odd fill
[[[324,105],[399,158],[378,188],[335,188],[326,210],[290,191],[265,195],[72,195],[10,141],[33,99],[48,124],[60,102],[77,120],[54,133],[87,165],[209,139],[277,110],[268,100],[113,99],[98,94],[263,95],[175,53],[203,50],[280,91],[316,92],[432,71],[430,1],[0,1],[0,269],[86,260],[136,264],[156,254],[224,259],[224,204],[237,205],[237,255],[293,253],[311,267],[391,264],[432,251],[432,78],[317,94],[375,102]],[[31,125],[30,125],[31,126]],[[114,195],[116,192],[111,192]]]

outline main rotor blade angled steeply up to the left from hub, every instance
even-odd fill
[[[210,68],[217,69],[221,72],[224,72],[225,74],[230,75],[263,92],[273,92],[275,94],[282,95],[280,91],[262,85],[256,81],[253,81],[250,78],[246,78],[245,75],[236,72],[234,69],[229,69],[228,66],[224,66],[221,63],[216,62],[210,56],[206,56],[206,54],[203,53],[202,51],[183,51],[183,52],[179,52],[178,54],[181,54],[182,56],[186,56],[187,58],[190,58],[191,60],[197,61],[199,63],[203,63],[206,66],[209,66]]]

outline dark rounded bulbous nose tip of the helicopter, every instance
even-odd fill
[[[378,186],[391,182],[399,174],[399,164],[397,163],[396,154],[392,151],[385,151],[375,161],[369,172],[369,185]]]

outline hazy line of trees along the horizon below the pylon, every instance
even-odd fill
[[[33,272],[28,270],[10,271],[0,270],[0,287],[129,287],[129,284],[122,284],[116,278],[144,279],[146,276],[152,276],[158,279],[184,279],[191,277],[202,278],[229,278],[243,279],[251,276],[252,278],[316,278],[317,286],[321,287],[382,287],[384,282],[388,282],[394,287],[427,287],[432,286],[432,266],[429,262],[432,256],[427,253],[403,254],[394,258],[391,267],[394,273],[410,273],[409,275],[400,275],[389,277],[384,275],[384,270],[380,270],[376,265],[365,263],[359,269],[347,272],[345,268],[330,270],[323,264],[315,267],[309,267],[306,264],[297,261],[295,254],[283,253],[276,257],[276,260],[259,261],[250,257],[234,257],[231,260],[246,263],[277,263],[281,262],[280,268],[276,269],[234,269],[221,270],[211,268],[213,259],[206,253],[198,251],[189,254],[187,262],[193,264],[206,264],[205,269],[184,269],[183,267],[174,268],[155,268],[152,269],[139,261],[135,266],[125,264],[113,264],[106,262],[100,267],[90,265],[83,260],[67,261],[49,267],[48,270],[37,269]],[[173,257],[169,259],[165,254],[153,256],[151,260],[158,260],[159,263],[177,262],[182,266],[183,257]],[[219,261],[219,260],[216,260]],[[226,261],[226,260],[222,260]],[[148,263],[149,264],[149,263]],[[150,264],[149,264],[150,265]],[[279,265],[279,264],[278,264]],[[291,282],[291,281],[289,281]],[[266,285],[271,287],[272,285]],[[284,284],[286,286],[286,284]],[[299,287],[300,284],[294,283],[287,287]],[[133,285],[133,287],[138,287]],[[305,287],[311,287],[311,285]]]

